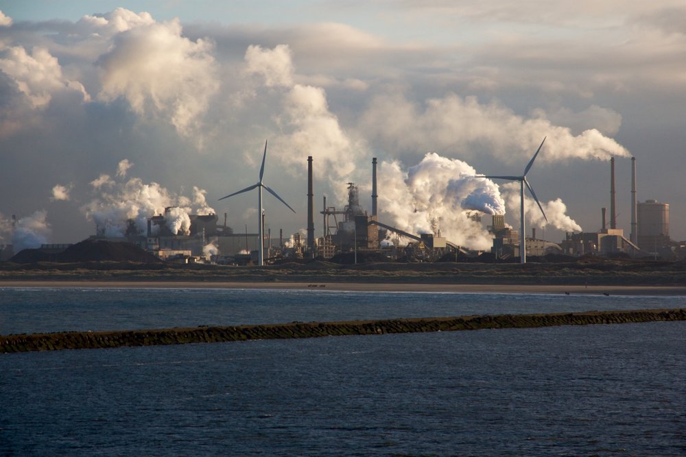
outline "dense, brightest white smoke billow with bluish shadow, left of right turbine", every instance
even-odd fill
[[[480,223],[480,213],[504,214],[505,201],[492,181],[461,160],[427,153],[407,171],[399,162],[382,162],[380,207],[392,225],[421,234],[440,230],[453,243],[487,249],[492,236]]]

